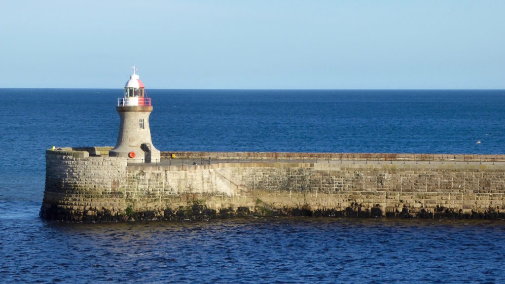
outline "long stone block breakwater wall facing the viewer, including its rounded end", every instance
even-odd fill
[[[505,217],[503,164],[128,164],[107,156],[110,149],[47,150],[40,216],[84,222],[251,215]]]

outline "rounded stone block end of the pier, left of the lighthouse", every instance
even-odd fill
[[[124,211],[126,158],[101,156],[99,148],[83,150],[47,150],[41,217],[94,221]]]

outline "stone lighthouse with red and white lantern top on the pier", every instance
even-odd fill
[[[109,156],[143,163],[159,162],[160,151],[153,146],[149,130],[149,114],[153,106],[146,96],[144,84],[135,73],[135,66],[125,84],[124,96],[118,98],[116,110],[121,118],[118,142]]]

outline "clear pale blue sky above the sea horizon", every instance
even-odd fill
[[[0,87],[505,89],[505,1],[0,2]]]

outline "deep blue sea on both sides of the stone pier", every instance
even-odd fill
[[[162,151],[505,154],[505,90],[147,94]],[[0,89],[0,282],[505,282],[503,220],[40,219],[45,149],[114,146],[121,96]]]

